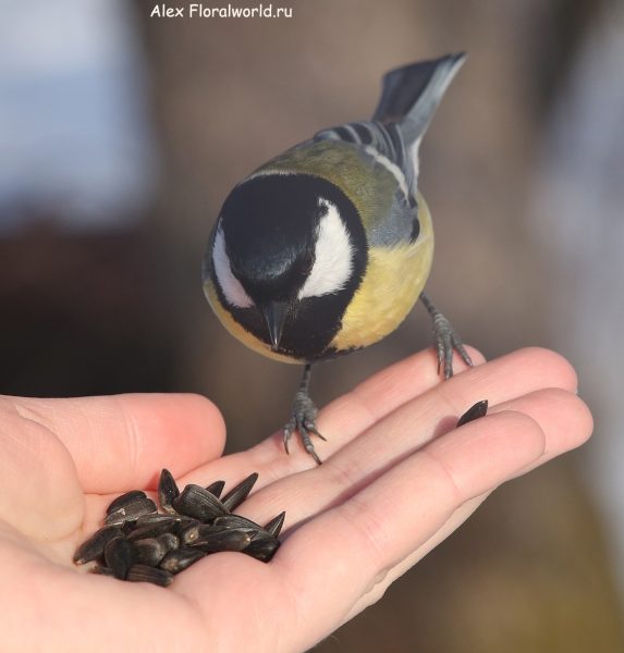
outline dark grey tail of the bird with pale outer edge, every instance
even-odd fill
[[[465,52],[446,54],[391,71],[383,77],[383,91],[372,120],[397,123],[406,144],[419,140],[465,59]]]

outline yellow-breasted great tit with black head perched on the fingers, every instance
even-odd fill
[[[433,256],[429,209],[417,189],[418,146],[465,54],[388,73],[370,121],[323,130],[271,159],[230,193],[208,241],[204,289],[224,326],[252,349],[304,373],[284,428],[310,433],[313,362],[394,331],[418,298],[433,320],[438,371],[453,348],[449,321],[423,293]],[[325,439],[323,439],[325,440]]]

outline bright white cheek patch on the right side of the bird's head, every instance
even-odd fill
[[[320,220],[315,262],[299,299],[338,293],[353,272],[353,245],[338,208],[327,199],[320,199],[319,205],[327,207],[327,213]]]

